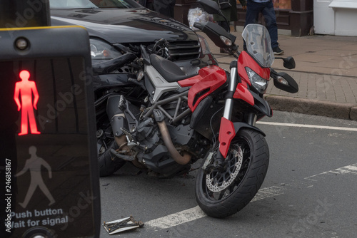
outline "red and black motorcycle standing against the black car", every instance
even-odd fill
[[[201,4],[218,11],[214,1]],[[227,217],[253,199],[268,170],[268,145],[256,121],[272,116],[263,98],[270,79],[290,93],[298,86],[288,74],[271,68],[274,55],[264,26],[246,26],[242,36],[247,50],[241,53],[235,36],[221,26],[195,26],[238,60],[231,62],[230,72],[213,65],[187,76],[146,46],[140,54],[128,48],[122,52],[135,58],[126,61],[132,78],[103,83],[96,90],[100,171],[111,175],[132,162],[151,174],[172,177],[201,161],[198,205],[211,217]],[[165,41],[160,44],[164,52]],[[286,68],[295,67],[293,58],[283,61]]]

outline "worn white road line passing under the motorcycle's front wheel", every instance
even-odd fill
[[[283,194],[283,190],[283,187],[277,186],[261,188],[256,194],[256,196],[253,198],[253,200],[251,200],[251,202],[281,195]],[[200,207],[196,206],[190,209],[183,210],[181,212],[169,214],[166,217],[152,219],[149,222],[145,222],[145,227],[155,230],[168,229],[170,227],[175,227],[179,224],[183,224],[186,222],[192,222],[193,220],[200,219],[206,216],[206,213],[204,213]]]

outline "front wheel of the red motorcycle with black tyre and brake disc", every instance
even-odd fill
[[[261,187],[269,163],[268,144],[261,133],[243,128],[232,140],[223,171],[196,175],[196,201],[210,217],[231,216],[248,205]]]

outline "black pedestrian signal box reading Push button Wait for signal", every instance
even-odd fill
[[[0,237],[99,237],[89,52],[81,27],[0,30]]]

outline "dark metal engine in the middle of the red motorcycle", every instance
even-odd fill
[[[162,109],[174,116],[176,105],[177,102],[168,103],[162,105]],[[182,110],[186,110],[186,108],[183,106]],[[166,118],[166,126],[176,150],[181,153],[186,151],[192,155],[191,162],[188,162],[187,165],[179,165],[164,145],[156,120],[154,118],[140,119],[138,114],[135,113],[136,111],[138,111],[138,108],[131,103],[127,104],[124,110],[124,113],[128,114],[126,118],[129,118],[129,114],[136,115],[136,121],[139,121],[139,123],[131,123],[137,125],[136,130],[131,130],[131,136],[134,139],[134,143],[131,143],[131,154],[136,155],[138,162],[149,170],[164,177],[181,175],[190,170],[191,162],[195,162],[206,153],[208,143],[205,138],[190,128],[189,116],[177,125],[171,125],[169,118]]]

